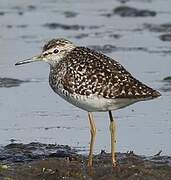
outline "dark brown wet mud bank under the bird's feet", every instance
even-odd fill
[[[93,157],[93,167],[87,167],[87,156],[79,155],[69,146],[56,144],[9,144],[0,149],[0,178],[134,180],[171,179],[171,157],[145,157],[133,152],[116,153],[117,167],[111,167],[109,153],[102,151]]]

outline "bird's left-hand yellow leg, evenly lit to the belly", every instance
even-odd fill
[[[96,136],[96,127],[93,120],[93,115],[91,112],[88,112],[88,119],[90,123],[90,133],[91,133],[91,141],[90,141],[90,150],[89,150],[89,156],[88,156],[88,166],[92,167],[92,158],[93,158],[93,146],[95,142],[95,136]]]

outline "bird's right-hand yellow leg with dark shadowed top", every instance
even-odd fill
[[[116,167],[116,159],[115,159],[115,143],[116,143],[115,130],[116,130],[116,125],[115,125],[115,121],[112,117],[111,111],[109,111],[109,117],[110,117],[110,133],[111,133],[112,166]]]

